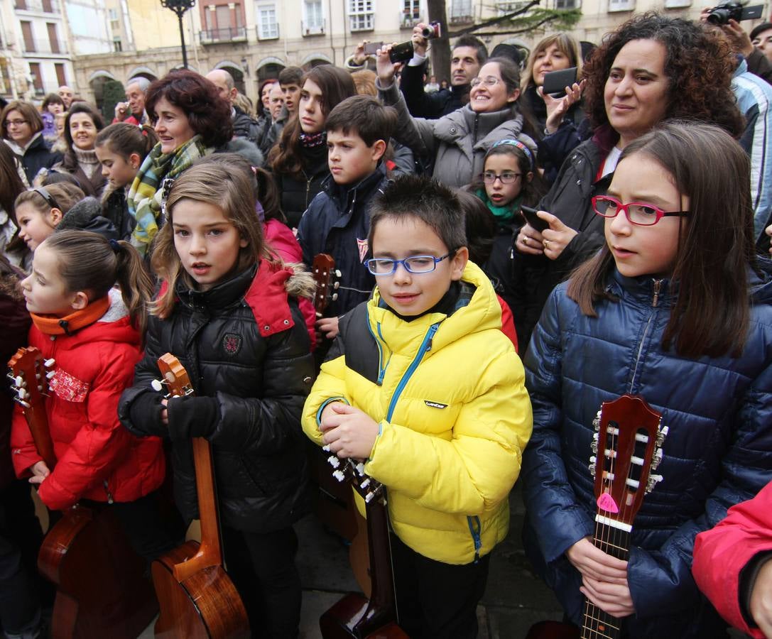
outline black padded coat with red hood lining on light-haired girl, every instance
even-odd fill
[[[308,512],[303,402],[313,384],[310,338],[289,269],[265,260],[205,292],[178,286],[168,320],[151,317],[145,356],[124,391],[120,421],[138,436],[165,436],[161,394],[151,388],[157,359],[181,361],[197,397],[216,401],[212,443],[224,526],[271,532]],[[174,402],[184,400],[174,400]],[[189,415],[192,422],[201,414]],[[170,408],[171,423],[171,408]],[[172,441],[174,499],[187,521],[198,516],[190,439]]]

